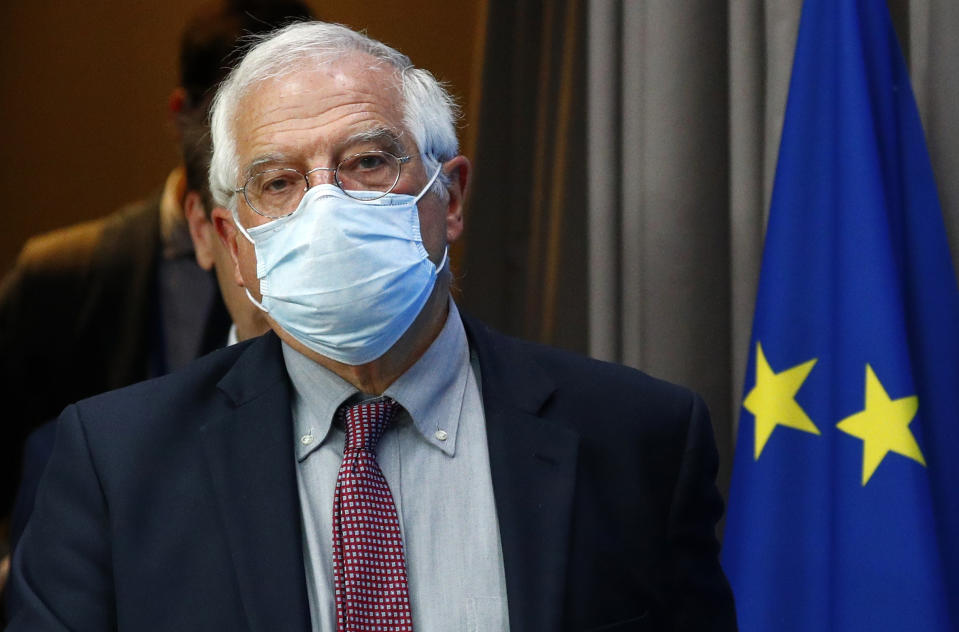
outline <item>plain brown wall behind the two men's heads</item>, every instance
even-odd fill
[[[0,273],[32,234],[109,213],[176,164],[167,99],[200,0],[0,3]],[[466,110],[485,0],[313,0],[451,83]],[[467,129],[460,130],[468,140]]]

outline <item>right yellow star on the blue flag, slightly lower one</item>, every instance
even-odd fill
[[[836,427],[862,439],[862,484],[870,477],[890,452],[918,461],[925,467],[926,460],[909,430],[909,424],[919,410],[915,395],[890,399],[872,367],[866,365],[866,407],[846,417]]]

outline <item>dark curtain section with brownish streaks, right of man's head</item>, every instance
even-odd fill
[[[460,303],[497,328],[587,352],[583,0],[491,0]]]

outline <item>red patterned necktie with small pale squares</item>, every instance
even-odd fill
[[[398,405],[389,397],[337,411],[346,426],[333,497],[336,629],[412,631],[403,538],[376,443]]]

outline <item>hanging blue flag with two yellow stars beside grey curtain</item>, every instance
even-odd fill
[[[741,629],[959,630],[959,292],[883,0],[803,7],[743,393]]]

